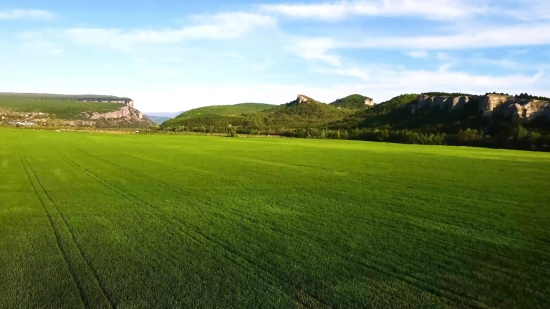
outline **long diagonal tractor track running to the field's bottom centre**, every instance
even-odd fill
[[[170,220],[157,207],[149,204],[148,202],[138,198],[137,196],[135,196],[135,195],[133,195],[129,192],[124,192],[122,190],[119,190],[119,189],[111,186],[105,179],[103,179],[100,176],[92,173],[91,171],[89,171],[86,168],[82,167],[78,163],[70,160],[69,158],[65,157],[64,160],[68,164],[80,169],[82,172],[84,172],[86,175],[88,175],[89,177],[96,180],[98,183],[102,184],[108,190],[118,194],[119,196],[121,196],[121,197],[123,197],[127,200],[130,200],[132,203],[134,203],[137,206],[146,206],[149,209],[148,210],[149,213],[151,213],[152,215],[154,215],[157,218],[161,219],[162,221],[166,222],[167,224],[175,227],[178,231],[180,231],[181,233],[188,236],[192,241],[194,241],[195,243],[198,243],[203,248],[205,248],[209,251],[213,251],[213,249],[212,249],[213,247],[218,247],[218,248],[222,249],[222,251],[225,252],[225,254],[222,254],[221,256],[224,258],[225,261],[237,266],[238,268],[242,269],[244,272],[250,274],[251,276],[256,277],[257,279],[269,284],[274,289],[279,290],[282,294],[288,295],[288,293],[286,293],[284,291],[283,287],[281,287],[280,284],[277,284],[277,282],[280,282],[280,278],[278,278],[276,275],[272,274],[271,272],[263,269],[262,267],[259,267],[258,265],[252,263],[250,260],[246,259],[238,251],[232,250],[230,248],[230,246],[227,246],[225,244],[222,244],[222,243],[212,239],[211,237],[207,236],[206,234],[202,233],[200,230],[198,230],[196,228],[190,228],[189,226],[187,226],[185,223],[181,222],[180,220]],[[113,163],[111,163],[111,164],[113,164]],[[157,183],[157,185],[159,184],[158,182],[155,182],[155,183]],[[174,191],[176,193],[183,194],[182,192],[178,191],[177,189],[173,189],[172,191]],[[154,212],[152,210],[154,210]],[[198,236],[190,233],[190,231],[196,233]],[[208,243],[210,243],[211,245],[209,246]],[[213,251],[213,252],[216,253],[215,251]],[[219,259],[217,255],[214,255],[214,258]],[[249,266],[249,267],[246,267],[245,265],[239,264],[237,261],[241,261],[241,263],[244,261],[246,266]],[[256,270],[256,272],[251,271],[251,269]],[[259,275],[258,273],[263,273],[263,276]],[[279,279],[279,280],[277,280],[277,279]],[[283,282],[285,282],[285,281],[283,281]],[[321,300],[315,298],[312,295],[311,295],[311,298],[316,300],[319,303],[323,303]],[[328,304],[325,304],[325,308],[331,308],[331,307]]]

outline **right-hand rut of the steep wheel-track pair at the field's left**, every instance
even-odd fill
[[[79,255],[79,258],[82,259],[82,261],[84,261],[85,263],[85,266],[88,268],[88,271],[91,273],[93,279],[92,279],[92,282],[93,282],[93,285],[99,287],[100,291],[101,291],[101,294],[103,294],[103,296],[105,297],[105,299],[107,300],[107,302],[109,303],[109,307],[112,308],[112,309],[116,309],[116,304],[115,302],[113,301],[113,299],[111,298],[111,296],[109,295],[109,293],[107,293],[107,290],[105,289],[105,286],[102,284],[102,282],[100,281],[99,279],[99,276],[97,274],[97,271],[94,269],[94,267],[92,267],[89,259],[86,258],[86,256],[84,255],[83,251],[82,251],[82,248],[81,246],[78,244],[77,240],[76,240],[76,237],[72,231],[72,229],[69,227],[69,223],[67,222],[67,219],[66,217],[63,215],[63,213],[59,210],[59,208],[57,207],[57,204],[55,204],[55,202],[53,201],[52,197],[50,196],[50,194],[48,193],[48,191],[46,191],[46,189],[44,188],[44,186],[42,185],[42,183],[40,182],[40,179],[38,178],[38,176],[36,175],[36,172],[34,171],[34,169],[32,168],[32,166],[30,165],[30,163],[28,162],[27,158],[24,157],[25,159],[25,162],[28,166],[28,168],[30,169],[31,173],[34,175],[34,178],[36,179],[38,185],[40,186],[41,188],[41,191],[46,195],[46,197],[48,198],[49,202],[54,206],[55,208],[55,211],[57,212],[57,214],[59,215],[59,217],[61,217],[61,220],[62,220],[62,223],[63,225],[65,226],[65,229],[67,230],[67,232],[69,233],[70,237],[71,237],[71,240],[73,242],[73,244],[75,245],[76,247],[76,251],[78,252],[78,255]],[[44,206],[44,204],[43,204]],[[50,216],[51,218],[51,216]],[[53,220],[51,221],[51,223],[53,223]],[[67,254],[68,256],[68,254]],[[74,269],[73,269],[74,270]],[[75,274],[76,276],[76,274]],[[80,284],[82,285],[82,284]],[[81,289],[82,289],[82,286],[81,286]],[[84,293],[84,289],[82,289],[82,293]],[[98,304],[90,304],[90,300],[87,298],[87,307],[89,308],[95,308],[95,306],[97,306]]]

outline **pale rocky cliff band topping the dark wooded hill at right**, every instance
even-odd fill
[[[429,108],[461,112],[467,105],[474,107],[485,116],[500,116],[516,121],[533,120],[541,116],[550,117],[550,102],[536,99],[524,99],[501,94],[482,96],[430,96],[421,94],[418,101],[410,104],[412,114]]]

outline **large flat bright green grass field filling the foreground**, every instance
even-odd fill
[[[550,308],[550,154],[0,130],[0,308]]]

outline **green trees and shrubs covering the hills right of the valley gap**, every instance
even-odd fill
[[[480,96],[429,92],[425,95],[470,96],[458,112],[424,108],[413,113],[419,94],[404,94],[367,106],[366,97],[351,95],[324,104],[306,96],[271,109],[236,117],[197,116],[163,123],[162,131],[269,134],[302,138],[387,141],[409,144],[471,145],[497,148],[550,150],[550,118],[518,122],[487,117]],[[300,97],[302,99],[300,99]],[[515,98],[544,97],[521,94]],[[361,107],[360,107],[361,106]]]

